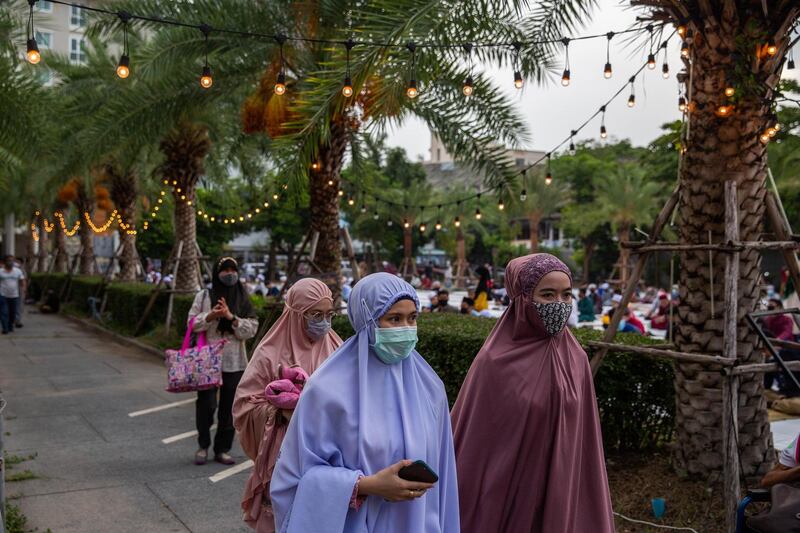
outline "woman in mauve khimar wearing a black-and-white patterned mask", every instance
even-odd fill
[[[571,273],[549,254],[520,257],[506,290],[452,412],[461,530],[613,532],[592,373],[565,328]]]

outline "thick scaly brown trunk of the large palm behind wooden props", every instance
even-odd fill
[[[754,21],[748,18],[746,23],[755,24]],[[719,26],[706,26],[704,38],[698,35],[693,44],[691,138],[686,144],[679,178],[679,240],[685,244],[708,242],[709,230],[714,242],[723,241],[726,180],[733,180],[738,188],[740,239],[757,241],[761,238],[767,154],[759,135],[768,126],[769,105],[764,103],[763,97],[742,95],[731,116],[718,118],[714,113],[724,87],[724,74],[732,70],[733,54],[727,50],[736,49],[738,36],[756,35],[761,31],[757,28],[745,31],[738,27],[738,22],[736,24],[723,17]],[[695,29],[695,34],[700,31]],[[744,320],[745,314],[758,305],[760,263],[758,252],[740,253],[736,354],[739,363],[763,361],[758,337]],[[717,254],[714,259],[713,285],[708,252],[681,253],[680,264],[675,344],[685,352],[719,354],[723,346],[725,300],[721,282],[724,279],[723,257]],[[717,302],[714,316],[710,307],[712,293]],[[723,418],[721,375],[718,370],[697,364],[676,364],[675,378],[677,466],[690,474],[707,475],[719,471],[724,457],[720,427]],[[753,476],[769,469],[775,456],[766,400],[762,396],[762,378],[758,374],[745,374],[740,379],[739,451],[743,474]]]

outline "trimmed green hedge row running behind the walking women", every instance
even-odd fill
[[[34,274],[31,295],[37,297],[45,283],[58,289],[63,275]],[[70,291],[69,303],[88,314],[87,298],[95,296],[101,283],[97,277],[76,277]],[[38,292],[37,292],[38,291]],[[152,291],[142,283],[112,283],[107,287],[104,320],[115,330],[131,334],[144,312]],[[166,294],[160,296],[156,309],[145,327],[152,332],[163,324],[167,308]],[[193,297],[176,295],[174,306],[178,331],[169,342],[177,346],[185,331],[185,317]],[[281,305],[254,299],[259,321],[271,326],[280,316]],[[418,351],[425,356],[445,384],[451,404],[484,340],[494,327],[495,320],[456,314],[423,314],[420,317]],[[343,339],[353,335],[346,316],[337,316],[333,328]],[[266,329],[264,330],[266,331]],[[589,341],[601,340],[602,331],[578,329],[575,336],[591,355]],[[620,334],[625,344],[650,344],[646,337]],[[603,438],[608,449],[645,449],[668,442],[672,438],[675,419],[674,370],[669,361],[645,359],[632,353],[611,353],[605,359],[595,380]]]

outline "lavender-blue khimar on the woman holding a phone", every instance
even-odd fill
[[[372,352],[375,323],[416,291],[396,276],[372,274],[353,288],[356,334],[308,380],[272,475],[277,531],[290,533],[458,533],[458,488],[444,385],[416,351],[386,365]],[[350,499],[359,475],[422,459],[439,482],[416,500]]]

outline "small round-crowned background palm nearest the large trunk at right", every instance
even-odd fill
[[[653,219],[660,207],[663,186],[648,181],[641,168],[632,164],[620,166],[616,172],[598,178],[593,210],[611,223],[617,240],[630,240],[631,230]],[[628,283],[630,250],[620,246],[620,280]]]

